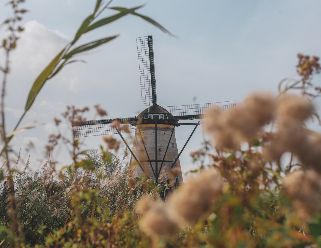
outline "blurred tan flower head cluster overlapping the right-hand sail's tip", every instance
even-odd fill
[[[229,111],[207,112],[205,129],[221,148],[235,150],[242,141],[250,142],[274,116],[276,100],[271,94],[254,94],[244,104]]]

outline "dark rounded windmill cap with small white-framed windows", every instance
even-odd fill
[[[131,125],[136,126],[138,124],[151,124],[155,123],[155,119],[157,119],[158,124],[168,124],[173,126],[179,126],[177,119],[169,113],[165,108],[160,107],[157,104],[150,106],[143,110],[137,116],[137,121],[133,121]]]

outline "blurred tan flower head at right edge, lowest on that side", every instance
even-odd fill
[[[321,210],[321,176],[313,170],[287,175],[283,188],[303,222]]]

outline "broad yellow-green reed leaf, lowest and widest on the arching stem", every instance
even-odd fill
[[[48,76],[52,73],[52,71],[55,69],[57,66],[58,62],[61,59],[61,56],[64,54],[65,49],[62,49],[62,51],[50,62],[50,64],[40,73],[38,78],[34,81],[32,88],[29,92],[29,96],[26,102],[26,107],[25,110],[29,110],[31,107],[32,103],[34,102],[36,96],[38,95],[40,89],[42,86],[45,84],[45,82],[48,79]]]

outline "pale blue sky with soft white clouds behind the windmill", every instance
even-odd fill
[[[5,3],[0,2],[1,21],[11,16],[10,6]],[[87,119],[94,118],[95,104],[107,110],[107,118],[132,117],[146,108],[141,104],[136,37],[153,36],[157,100],[165,108],[228,100],[240,104],[253,92],[277,94],[283,78],[296,77],[297,53],[321,56],[319,0],[114,0],[110,7],[139,5],[144,6],[137,12],[158,21],[174,36],[137,16],[126,16],[84,35],[78,45],[120,36],[77,57],[86,63],[71,64],[46,82],[22,122],[37,120],[42,125],[12,140],[13,149],[22,150],[22,165],[30,155],[30,168],[42,167],[48,159],[44,152],[48,135],[56,132],[53,119],[62,118],[67,105],[91,107]],[[94,1],[27,0],[22,7],[29,12],[23,15],[25,30],[11,57],[5,104],[8,132],[22,114],[33,81],[71,41],[82,20],[92,12]],[[107,9],[101,17],[115,13]],[[0,27],[0,39],[4,36]],[[0,52],[0,65],[3,63]],[[320,77],[314,82],[320,85]],[[61,128],[72,137],[68,124],[63,122]],[[192,129],[176,128],[178,151]],[[197,167],[190,152],[209,138],[202,125],[196,129],[180,157],[183,175]],[[34,148],[26,150],[30,141]],[[83,141],[88,150],[103,145],[99,136]],[[52,158],[61,167],[71,163],[64,146],[53,151]]]

